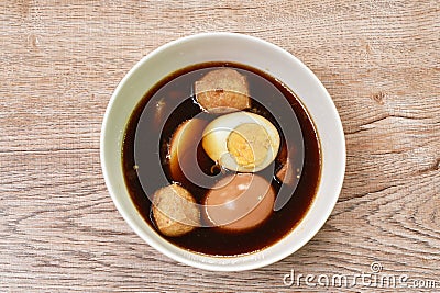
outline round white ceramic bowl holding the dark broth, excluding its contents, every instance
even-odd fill
[[[138,213],[124,184],[121,146],[125,125],[140,99],[177,69],[206,61],[234,61],[268,72],[289,87],[311,115],[320,137],[322,170],[312,205],[286,237],[261,251],[210,257],[164,240]],[[322,227],[338,200],[345,170],[345,143],[337,109],[318,78],[296,57],[271,43],[233,33],[205,33],[183,37],[153,50],[139,61],[116,89],[102,123],[102,172],[116,206],[139,236],[179,262],[216,271],[255,269],[298,250]]]

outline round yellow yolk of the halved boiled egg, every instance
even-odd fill
[[[265,160],[271,138],[260,124],[244,123],[231,132],[227,146],[238,165],[250,168]]]

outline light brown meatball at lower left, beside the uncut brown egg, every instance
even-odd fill
[[[154,193],[153,217],[160,232],[170,237],[182,236],[201,225],[194,196],[176,183]]]

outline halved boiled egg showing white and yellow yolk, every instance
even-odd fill
[[[202,147],[220,166],[239,172],[257,172],[270,166],[279,148],[279,134],[265,117],[234,112],[210,122]]]

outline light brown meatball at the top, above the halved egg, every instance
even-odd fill
[[[210,113],[230,113],[251,106],[246,77],[232,68],[209,71],[195,82],[196,100]]]

